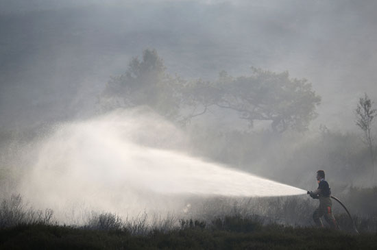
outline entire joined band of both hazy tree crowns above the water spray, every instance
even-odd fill
[[[172,77],[158,53],[149,49],[143,52],[143,60],[132,58],[125,74],[112,77],[101,96],[106,108],[148,105],[162,116],[183,122],[217,107],[236,112],[251,126],[269,121],[275,132],[307,129],[320,101],[306,79],[291,79],[288,72],[252,68],[251,75],[232,77],[221,71],[213,82]]]

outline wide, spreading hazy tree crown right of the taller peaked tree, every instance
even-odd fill
[[[197,85],[205,91],[195,92]],[[221,71],[216,82],[197,85],[192,86],[191,92],[195,109],[198,105],[203,107],[199,114],[215,105],[237,112],[250,126],[254,121],[269,121],[274,132],[289,128],[304,131],[317,116],[315,107],[321,101],[306,79],[291,79],[288,72],[272,73],[258,68],[252,68],[251,76],[236,78]]]

